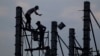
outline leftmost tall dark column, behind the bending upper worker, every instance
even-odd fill
[[[16,7],[16,34],[15,34],[15,56],[22,56],[22,8]]]

